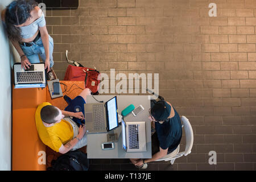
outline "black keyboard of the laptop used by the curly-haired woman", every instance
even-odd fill
[[[43,72],[16,72],[17,82],[41,82],[44,81]]]

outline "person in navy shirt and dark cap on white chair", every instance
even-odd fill
[[[180,116],[170,102],[160,100],[151,105],[151,126],[155,133],[151,136],[152,158],[130,159],[139,168],[147,168],[147,163],[163,158],[174,151],[180,144],[182,126]]]

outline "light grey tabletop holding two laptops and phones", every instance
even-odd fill
[[[98,101],[108,101],[114,96],[94,96]],[[86,103],[97,103],[92,96],[87,96]],[[87,134],[87,157],[88,159],[129,159],[129,158],[141,158],[150,159],[151,154],[151,124],[148,119],[150,109],[150,100],[148,96],[117,96],[117,109],[118,114],[121,114],[122,110],[130,104],[135,107],[142,105],[144,110],[142,113],[134,117],[133,114],[127,115],[123,118],[124,121],[145,121],[146,122],[146,141],[147,151],[146,152],[126,152],[122,148],[122,126],[119,125],[116,129],[109,131],[108,133],[88,133]],[[118,142],[114,142],[113,150],[102,150],[101,144],[107,142],[107,134],[117,134]]]

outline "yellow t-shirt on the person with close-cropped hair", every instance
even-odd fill
[[[51,127],[46,127],[40,117],[40,111],[44,106],[51,105],[49,102],[43,102],[38,106],[35,113],[36,129],[42,142],[52,150],[59,152],[61,144],[69,142],[73,138],[73,128],[68,121],[61,119]]]

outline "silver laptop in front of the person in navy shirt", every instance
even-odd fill
[[[122,143],[126,152],[146,152],[145,122],[125,122],[122,120]]]

